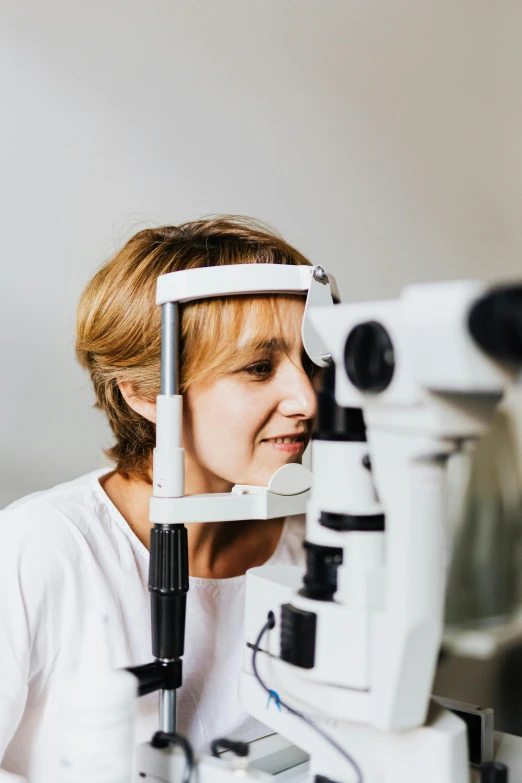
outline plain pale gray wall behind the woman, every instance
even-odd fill
[[[102,464],[73,358],[137,228],[235,212],[345,299],[522,273],[520,0],[0,0],[0,505]]]

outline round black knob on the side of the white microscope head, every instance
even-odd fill
[[[390,335],[377,321],[355,326],[344,346],[344,366],[353,385],[364,392],[382,392],[395,370]]]

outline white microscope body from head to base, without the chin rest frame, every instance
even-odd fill
[[[480,437],[513,378],[470,335],[482,293],[475,282],[417,285],[398,300],[312,313],[335,364],[335,404],[362,409],[366,440],[313,441],[306,547],[328,559],[322,593],[309,589],[318,573],[310,556],[304,584],[299,569],[248,574],[247,642],[268,611],[276,617],[269,654],[258,656],[262,679],[357,760],[365,783],[469,778],[464,725],[430,706],[430,695],[443,631],[447,458]],[[267,709],[248,649],[240,694],[259,720],[306,747],[314,774],[360,779],[321,735],[277,704]]]

